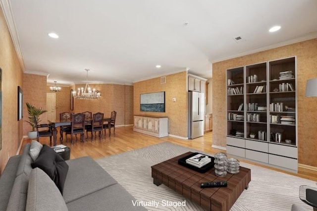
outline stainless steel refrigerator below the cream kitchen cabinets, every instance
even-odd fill
[[[188,92],[188,138],[204,135],[205,94]]]

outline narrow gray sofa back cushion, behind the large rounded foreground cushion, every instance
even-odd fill
[[[14,180],[7,211],[24,211],[28,192],[29,177],[20,174]]]

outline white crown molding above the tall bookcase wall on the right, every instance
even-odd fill
[[[263,51],[267,51],[267,50],[270,50],[270,49],[275,49],[275,48],[288,46],[288,45],[291,45],[291,44],[295,44],[295,43],[299,43],[299,42],[303,42],[303,41],[307,41],[307,40],[312,40],[312,39],[315,39],[315,38],[317,38],[317,32],[312,32],[312,33],[306,34],[306,35],[298,37],[298,38],[294,38],[294,39],[291,39],[291,40],[287,40],[287,41],[276,43],[276,44],[269,45],[269,46],[264,46],[264,47],[261,47],[261,48],[258,48],[258,49],[254,49],[254,50],[251,50],[251,51],[246,51],[246,52],[242,52],[242,53],[236,53],[236,54],[233,54],[233,55],[230,55],[230,56],[226,56],[226,57],[222,57],[222,58],[219,58],[219,59],[211,60],[210,62],[211,63],[216,63],[216,62],[220,62],[220,61],[224,61],[224,60],[228,60],[228,59],[232,59],[232,58],[236,58],[236,57],[240,57],[240,56],[244,56],[244,55],[249,55],[249,54],[252,54],[252,53],[263,52]]]

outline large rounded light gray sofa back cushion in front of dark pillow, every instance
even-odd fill
[[[26,211],[67,211],[62,195],[52,179],[40,168],[31,171]]]

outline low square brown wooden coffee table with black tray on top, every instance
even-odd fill
[[[251,169],[241,167],[237,174],[227,173],[217,177],[214,168],[199,173],[178,164],[178,159],[192,154],[188,152],[151,166],[154,184],[164,184],[206,210],[229,211],[251,181]],[[200,188],[202,182],[227,181],[227,187]]]

